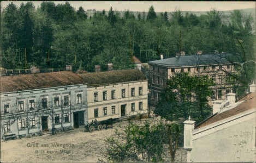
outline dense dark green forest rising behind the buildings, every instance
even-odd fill
[[[94,65],[106,69],[132,68],[132,56],[142,62],[186,55],[229,52],[242,61],[255,61],[255,26],[253,16],[234,10],[227,18],[212,9],[197,16],[180,10],[134,15],[114,11],[94,11],[92,16],[68,2],[32,2],[20,7],[9,4],[1,12],[2,66],[7,69],[64,68],[93,71]],[[239,58],[241,61],[241,58]],[[255,64],[255,63],[254,63]],[[252,78],[251,78],[252,79]]]

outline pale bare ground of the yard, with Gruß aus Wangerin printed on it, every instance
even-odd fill
[[[121,129],[127,121],[115,123],[112,129],[93,133],[83,128],[59,135],[24,137],[17,140],[1,141],[1,162],[97,162],[104,160],[105,137]],[[64,146],[64,147],[63,147]],[[185,162],[186,152],[178,151],[176,162]]]

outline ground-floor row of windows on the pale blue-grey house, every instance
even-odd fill
[[[61,121],[60,121],[60,118],[59,118],[59,114],[56,114],[55,115],[55,124],[60,124],[60,122]],[[63,122],[64,123],[70,122],[69,121],[69,112],[64,113],[64,121]],[[29,126],[30,129],[35,128],[35,117],[30,118],[30,123],[29,123],[29,121],[26,121],[26,119],[20,119],[18,121],[19,130],[25,130],[26,126],[28,126],[28,124],[30,125]],[[4,122],[4,129],[5,129],[5,131],[11,131],[10,126],[11,126],[11,122],[10,121]]]

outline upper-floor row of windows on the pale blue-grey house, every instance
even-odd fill
[[[29,99],[28,102],[29,102],[28,109],[35,110],[35,99]],[[76,95],[76,103],[77,104],[82,103],[82,94]],[[60,106],[59,96],[53,97],[53,105]],[[69,105],[69,96],[68,95],[63,97],[63,105],[64,106]],[[47,108],[47,98],[41,99],[41,108],[43,108],[43,109]],[[41,109],[41,108],[39,107],[39,109]],[[25,110],[24,101],[17,102],[17,109],[18,109],[18,112],[22,112]],[[7,113],[10,113],[10,104],[4,104],[4,114],[7,114]]]

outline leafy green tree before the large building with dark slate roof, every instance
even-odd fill
[[[213,79],[208,76],[176,73],[168,80],[154,114],[169,121],[189,116],[203,121],[212,112],[207,98],[213,95],[211,86],[214,85]]]

